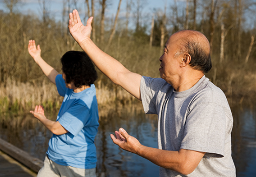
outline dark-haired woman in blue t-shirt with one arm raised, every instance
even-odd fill
[[[44,62],[35,40],[29,41],[28,51],[64,97],[56,121],[45,117],[42,106],[30,111],[53,133],[44,166],[37,176],[96,176],[94,138],[99,115],[94,86],[97,73],[93,63],[85,52],[69,51],[61,58],[61,75]]]

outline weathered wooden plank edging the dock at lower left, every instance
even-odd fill
[[[22,149],[17,148],[14,145],[11,145],[9,142],[4,141],[0,138],[0,149],[4,153],[10,155],[15,160],[21,162],[21,164],[27,166],[34,172],[38,172],[40,168],[43,166],[43,161],[34,158],[29,153],[23,151]]]

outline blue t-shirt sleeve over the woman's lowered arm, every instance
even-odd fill
[[[88,108],[81,104],[75,104],[70,107],[59,119],[58,122],[76,136],[90,120]]]

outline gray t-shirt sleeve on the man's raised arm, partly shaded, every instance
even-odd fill
[[[140,83],[141,101],[146,114],[157,114],[157,94],[165,80],[143,76]]]

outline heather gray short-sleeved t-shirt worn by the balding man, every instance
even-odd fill
[[[176,92],[161,78],[142,77],[145,113],[158,115],[158,147],[206,152],[187,176],[235,176],[231,156],[233,117],[225,94],[203,76],[192,88]],[[160,167],[160,176],[186,176]]]

